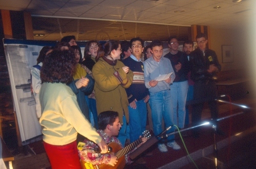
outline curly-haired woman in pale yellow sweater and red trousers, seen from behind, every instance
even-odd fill
[[[73,80],[76,67],[71,50],[54,50],[41,68],[39,93],[44,147],[52,168],[81,168],[77,153],[77,132],[89,138],[106,153],[105,142],[84,118],[76,95],[66,84]]]

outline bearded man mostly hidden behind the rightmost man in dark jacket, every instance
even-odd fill
[[[183,50],[187,54],[187,60],[190,61],[189,54],[193,51],[194,43],[190,40],[186,40],[183,43]],[[191,62],[189,62],[189,68],[191,67]],[[191,71],[187,73],[187,82],[188,82],[188,89],[187,89],[187,101],[193,100],[193,93],[194,93],[194,81],[191,79]],[[191,106],[186,105],[186,115],[185,115],[185,127],[188,127],[189,124],[189,108]]]

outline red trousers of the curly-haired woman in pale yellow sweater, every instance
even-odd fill
[[[63,146],[50,145],[44,142],[44,147],[52,169],[81,169],[76,140]]]

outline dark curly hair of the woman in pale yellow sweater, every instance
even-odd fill
[[[68,83],[73,80],[75,73],[75,55],[71,50],[53,50],[46,56],[41,67],[42,82]]]

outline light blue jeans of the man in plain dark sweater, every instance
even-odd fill
[[[174,109],[174,124],[179,128],[184,128],[185,123],[185,106],[187,98],[188,83],[186,81],[174,82],[170,86],[170,94],[172,95]],[[179,118],[178,118],[179,117]]]

